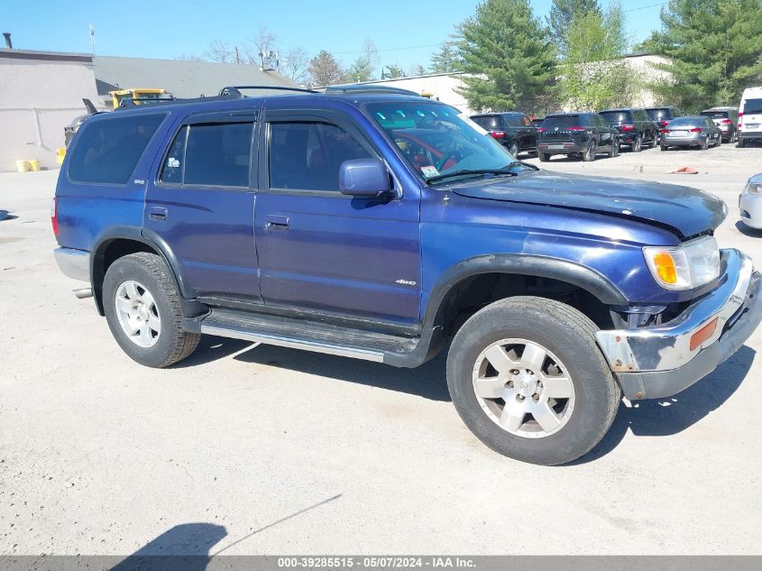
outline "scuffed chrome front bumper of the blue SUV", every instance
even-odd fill
[[[595,334],[629,399],[658,399],[687,389],[738,351],[762,321],[762,274],[738,250],[721,255],[721,284],[675,319]],[[712,335],[691,348],[692,337],[715,318]]]

